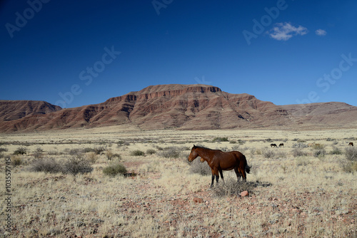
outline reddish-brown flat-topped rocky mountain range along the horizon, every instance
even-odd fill
[[[6,107],[6,102],[12,105]],[[293,130],[357,126],[357,107],[346,103],[275,105],[246,93],[231,94],[214,86],[199,84],[149,86],[136,92],[109,98],[104,103],[78,108],[61,109],[50,103],[38,101],[26,101],[26,105],[31,106],[24,107],[23,103],[16,106],[16,102],[24,101],[0,101],[1,132],[121,124],[136,125],[144,130]],[[16,110],[6,109],[11,107]]]

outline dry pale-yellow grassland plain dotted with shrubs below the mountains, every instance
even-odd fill
[[[8,212],[1,207],[0,234],[356,237],[357,148],[347,146],[356,134],[123,128],[0,134],[1,200],[5,161],[12,162],[12,229],[4,229]],[[210,189],[207,163],[187,162],[193,144],[243,152],[251,165],[247,182],[237,184],[233,171],[223,171],[226,182]],[[242,190],[248,197],[239,197]]]

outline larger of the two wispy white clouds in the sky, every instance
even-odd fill
[[[296,35],[305,35],[308,33],[308,29],[303,26],[291,26],[290,23],[277,23],[269,32],[269,36],[274,38],[278,41],[288,41],[289,38],[296,36]]]

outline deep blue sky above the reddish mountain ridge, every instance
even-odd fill
[[[357,1],[1,1],[0,99],[65,108],[206,83],[357,106]]]

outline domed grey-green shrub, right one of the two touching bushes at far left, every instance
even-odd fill
[[[91,172],[92,170],[93,167],[91,167],[89,161],[84,157],[72,156],[67,158],[62,172],[76,175],[78,173],[84,174],[86,172]]]

